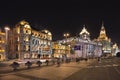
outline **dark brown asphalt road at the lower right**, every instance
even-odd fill
[[[96,61],[65,80],[120,80],[120,58]]]

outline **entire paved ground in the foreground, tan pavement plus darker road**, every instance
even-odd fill
[[[34,67],[0,74],[0,80],[120,80],[120,58]]]

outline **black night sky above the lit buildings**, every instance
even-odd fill
[[[52,0],[4,0],[0,2],[0,27],[13,27],[26,20],[36,30],[48,29],[53,40],[63,39],[63,33],[78,35],[83,25],[97,38],[102,20],[107,36],[120,44],[119,2],[111,1],[52,1]]]

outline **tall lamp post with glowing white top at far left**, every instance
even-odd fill
[[[5,37],[6,37],[6,42],[5,42],[5,59],[8,60],[8,31],[10,28],[6,26],[5,28]]]

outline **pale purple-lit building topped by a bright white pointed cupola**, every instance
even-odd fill
[[[70,49],[74,50],[73,53],[70,52],[70,56],[73,58],[79,57],[86,59],[100,57],[102,55],[102,44],[100,42],[90,40],[90,33],[85,28],[85,25],[83,26],[82,31],[79,33],[79,36],[69,37],[67,40],[66,38],[59,40],[59,43],[67,43],[70,45]]]

